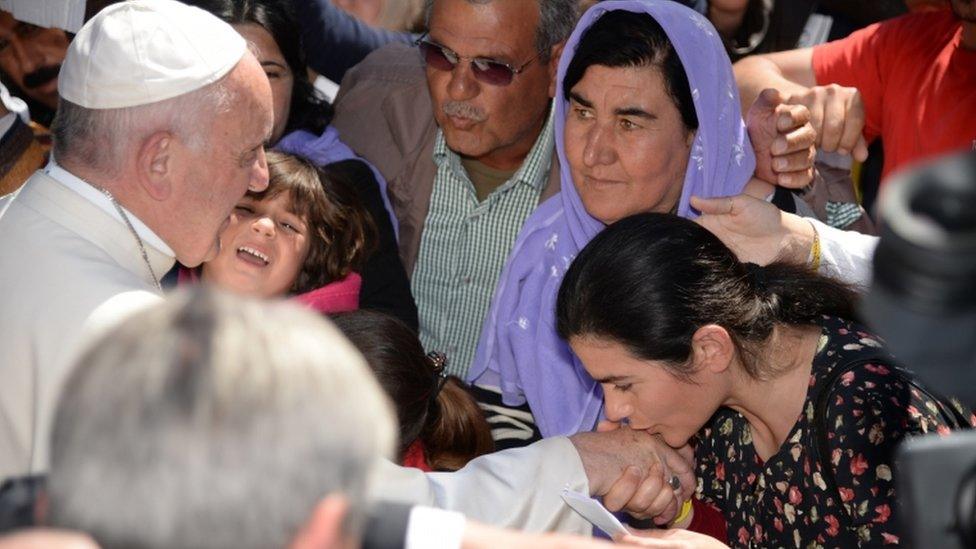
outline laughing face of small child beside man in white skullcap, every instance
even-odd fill
[[[220,253],[203,265],[203,279],[249,296],[287,293],[309,247],[305,220],[291,206],[287,192],[264,200],[242,198],[220,233]]]

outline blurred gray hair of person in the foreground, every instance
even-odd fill
[[[396,421],[361,355],[310,311],[193,289],[82,356],[55,420],[52,525],[103,549],[285,547],[341,494],[361,533]]]

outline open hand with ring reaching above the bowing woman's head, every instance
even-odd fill
[[[802,217],[745,194],[693,196],[691,205],[702,214],[695,222],[717,236],[742,262],[768,265],[774,261],[807,261],[815,233]]]

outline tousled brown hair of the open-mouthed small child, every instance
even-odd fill
[[[269,151],[268,188],[247,196],[268,200],[288,193],[291,209],[308,227],[309,249],[292,293],[304,293],[362,270],[376,245],[373,218],[341,171]]]

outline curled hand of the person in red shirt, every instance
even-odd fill
[[[867,159],[864,101],[857,88],[837,84],[814,86],[787,97],[786,102],[810,109],[810,123],[817,132],[818,147],[827,152],[853,154],[859,162]]]

